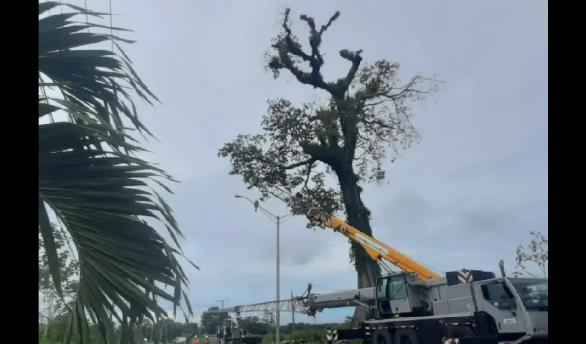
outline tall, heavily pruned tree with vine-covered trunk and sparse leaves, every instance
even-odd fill
[[[339,54],[350,68],[336,80],[325,80],[321,43],[339,15],[336,12],[321,27],[312,17],[301,15],[309,27],[309,47],[304,50],[292,33],[287,9],[283,31],[267,54],[267,69],[275,78],[288,72],[303,85],[327,92],[327,102],[296,106],[284,98],[270,100],[261,122],[263,133],[241,134],[219,155],[230,159],[230,174],[241,175],[249,189],[261,191],[263,199],[270,197],[269,184],[281,186],[331,214],[344,211],[347,222],[372,235],[361,185],[384,180],[387,158],[394,161],[402,149],[421,139],[411,122],[411,106],[434,94],[439,84],[421,75],[402,83],[398,63],[385,59],[363,63],[362,50],[346,49]],[[338,185],[328,186],[328,176]],[[310,219],[308,227],[312,226],[319,224]],[[358,288],[373,286],[380,274],[376,262],[354,243],[350,259],[358,272]],[[363,319],[365,310],[360,312],[356,316]]]

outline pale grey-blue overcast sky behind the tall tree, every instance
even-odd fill
[[[108,11],[105,0],[88,6]],[[496,271],[499,259],[511,270],[528,231],[547,233],[547,1],[113,1],[122,14],[114,26],[135,30],[125,37],[138,41],[126,52],[163,102],[139,113],[160,140],[147,145],[148,159],[182,182],[168,201],[184,250],[202,268],[188,272],[194,308],[275,298],[275,226],[234,198],[258,194],[229,176],[216,153],[238,133],[259,132],[267,99],[326,98],[263,72],[287,6],[302,43],[299,14],[321,25],[341,11],[323,39],[328,79],[349,67],[339,50],[362,49],[366,62],[401,63],[403,79],[421,72],[446,82],[416,108],[421,144],[387,164],[387,182],[365,188],[375,237],[442,271]],[[279,200],[263,206],[286,214]],[[302,217],[285,222],[281,295],[309,282],[315,292],[355,288],[348,248],[331,231],[305,229]],[[351,313],[324,312],[317,321]]]

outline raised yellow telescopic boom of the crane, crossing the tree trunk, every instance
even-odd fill
[[[289,191],[285,191],[278,186],[270,185],[269,192],[272,193],[272,195],[275,197],[279,198],[279,200],[282,200],[291,206],[295,204],[295,202],[293,202],[294,200],[299,200],[299,197],[296,197]],[[407,255],[398,252],[398,250],[395,250],[387,244],[374,239],[370,235],[366,235],[353,226],[350,226],[350,224],[342,221],[338,217],[328,214],[319,208],[308,207],[306,215],[312,219],[315,219],[316,221],[321,222],[324,226],[332,228],[334,232],[341,233],[348,239],[358,243],[366,250],[372,259],[381,263],[383,267],[385,267],[383,264],[384,260],[405,272],[416,274],[421,281],[441,278],[440,275],[438,275],[430,268],[423,266],[423,264],[418,263]],[[387,270],[390,269],[387,268]]]

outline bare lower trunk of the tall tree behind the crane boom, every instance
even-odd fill
[[[348,223],[366,235],[372,236],[370,211],[364,206],[361,200],[361,189],[358,186],[358,179],[354,175],[352,167],[347,167],[344,171],[338,173],[338,180],[340,182]],[[353,242],[352,250],[354,250],[354,266],[358,274],[358,288],[374,286],[376,277],[381,275],[381,269],[378,263],[371,259],[359,244]],[[367,309],[363,306],[356,306],[354,310],[354,322],[364,321],[366,317]]]

